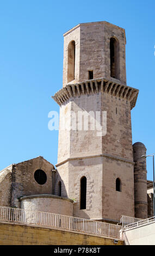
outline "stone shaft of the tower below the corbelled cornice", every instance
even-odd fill
[[[76,119],[70,112],[76,114]],[[78,113],[106,111],[107,133],[97,129],[78,130]],[[61,118],[75,121],[76,129],[61,129]],[[84,120],[84,119],[83,119]],[[96,121],[96,117],[95,117]],[[81,95],[60,107],[58,164],[64,196],[75,198],[74,216],[120,221],[122,215],[134,217],[134,162],[130,102],[109,94]],[[80,210],[80,178],[87,179],[86,209]],[[116,191],[116,179],[122,191]],[[57,185],[56,185],[57,186]],[[97,211],[96,211],[97,209]]]

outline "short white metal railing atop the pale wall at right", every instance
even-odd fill
[[[148,223],[155,222],[155,217],[141,219],[141,218],[133,218],[133,217],[127,217],[122,216],[122,229],[132,229],[136,227],[140,227],[141,225],[146,225]]]

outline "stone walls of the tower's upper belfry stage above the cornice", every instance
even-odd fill
[[[110,38],[119,42],[119,80],[126,84],[126,36],[123,28],[106,21],[80,23],[64,34],[63,87],[67,82],[68,46],[75,41],[75,80],[88,80],[88,71],[93,70],[94,78],[110,79]],[[117,79],[114,78],[114,81]]]

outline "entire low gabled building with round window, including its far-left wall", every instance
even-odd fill
[[[40,184],[35,177],[36,170],[42,170],[46,176],[44,184]],[[36,157],[28,161],[11,164],[0,172],[0,205],[20,208],[19,198],[34,194],[52,194],[53,164],[43,157]],[[42,209],[44,210],[44,209]]]

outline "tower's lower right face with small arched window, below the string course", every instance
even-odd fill
[[[116,179],[121,191],[116,191]],[[103,217],[120,222],[122,215],[134,217],[133,163],[103,158]]]

